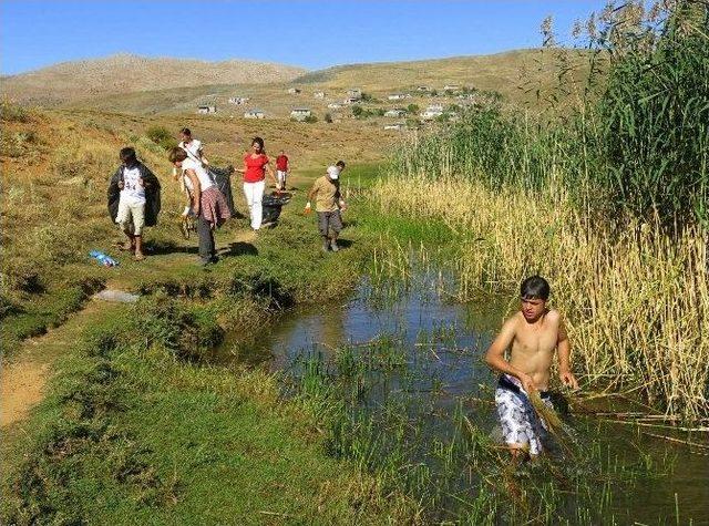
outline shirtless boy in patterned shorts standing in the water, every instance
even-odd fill
[[[528,451],[531,456],[543,451],[541,437],[546,423],[537,416],[527,393],[538,391],[542,401],[553,409],[547,389],[555,349],[562,383],[578,389],[569,367],[566,328],[558,311],[546,308],[548,297],[549,283],[544,278],[525,279],[520,312],[505,321],[485,354],[487,364],[502,373],[495,403],[505,443],[515,456],[521,451]],[[508,348],[510,360],[506,360],[504,354]]]

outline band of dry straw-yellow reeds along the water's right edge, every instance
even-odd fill
[[[491,192],[476,182],[421,176],[374,190],[382,209],[441,218],[464,239],[460,297],[479,288],[515,290],[532,274],[549,279],[568,319],[574,362],[586,381],[637,389],[687,419],[709,403],[707,239],[644,225],[616,234],[589,228],[562,190]]]

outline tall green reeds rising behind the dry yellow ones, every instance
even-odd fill
[[[588,30],[593,63],[579,100],[555,96],[556,107],[542,114],[476,107],[441,134],[414,137],[398,152],[397,171],[469,177],[493,189],[558,186],[606,223],[706,225],[708,11],[695,1],[648,13],[638,2],[607,10]],[[573,99],[579,90],[569,79],[559,75],[558,92]]]

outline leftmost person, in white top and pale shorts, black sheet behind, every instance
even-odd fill
[[[157,224],[160,213],[160,182],[135,156],[135,149],[125,147],[120,153],[121,166],[109,185],[109,214],[121,226],[127,241],[125,250],[143,256],[143,227]]]

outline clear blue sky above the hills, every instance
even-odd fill
[[[126,52],[319,70],[540,45],[605,0],[0,0],[0,72]]]

